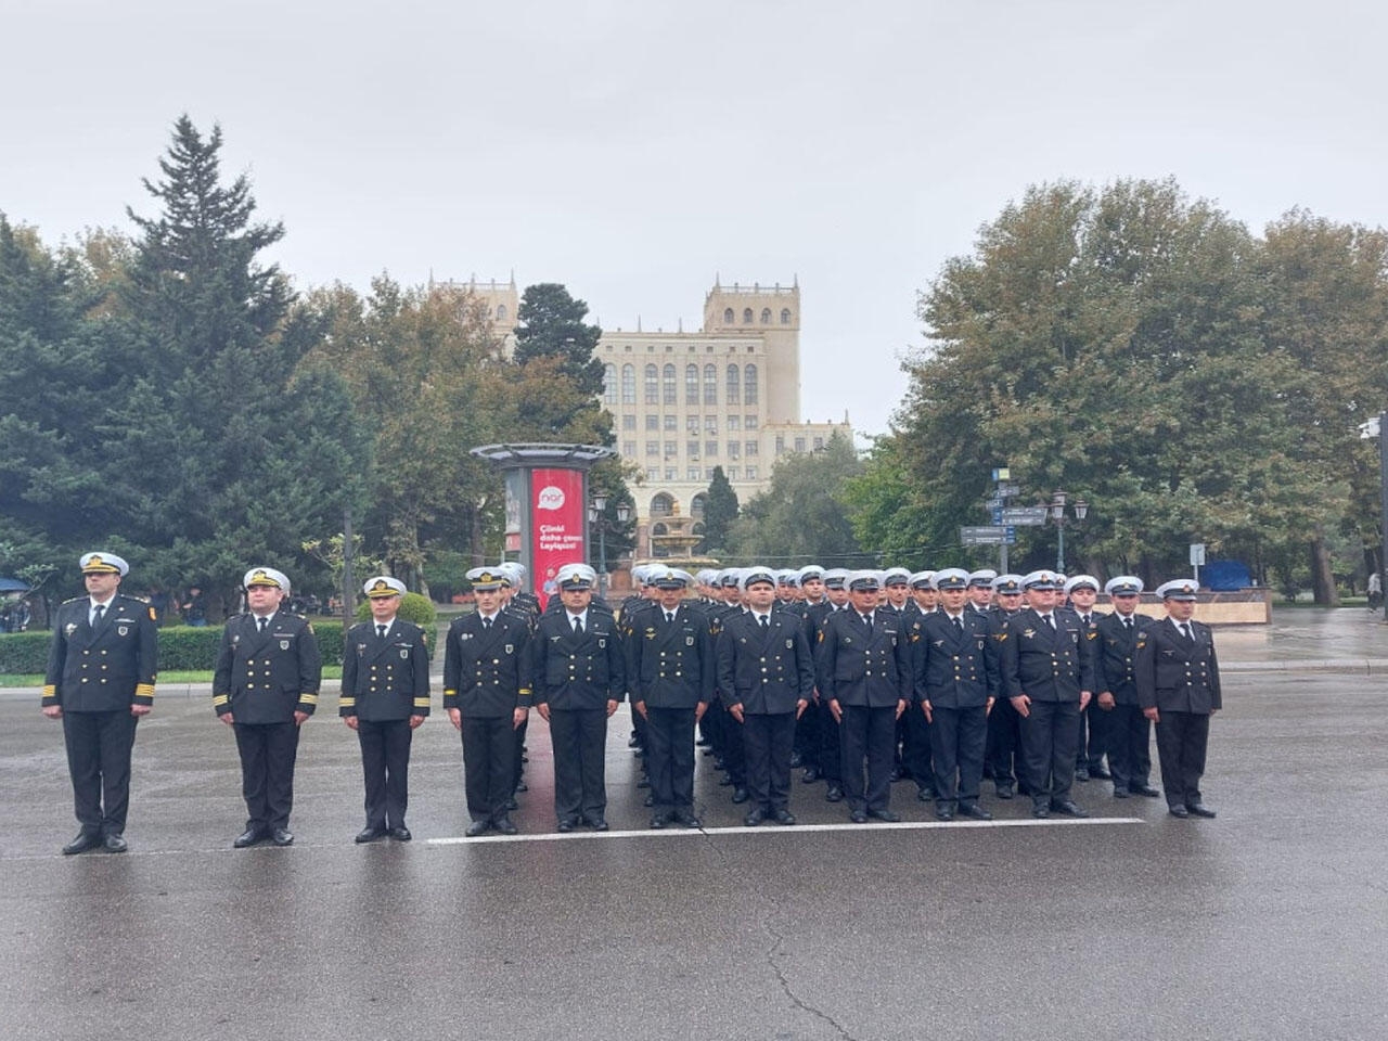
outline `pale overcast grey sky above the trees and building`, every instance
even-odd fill
[[[1255,230],[1388,225],[1384,6],[916,0],[0,0],[0,210],[151,214],[222,125],[296,285],[564,282],[686,329],[799,279],[806,419],[881,432],[916,293],[1027,185],[1174,175]]]

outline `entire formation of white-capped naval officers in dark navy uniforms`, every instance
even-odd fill
[[[121,852],[135,726],[154,698],[157,629],[147,604],[118,594],[128,565],[81,559],[86,597],[65,602],[43,690],[61,718],[81,826],[64,847]],[[462,740],[468,836],[514,834],[526,791],[530,709],[554,748],[559,831],[607,830],[608,719],[630,697],[650,826],[700,827],[697,747],[745,805],[744,824],[795,823],[793,770],[824,783],[849,819],[894,822],[894,780],[909,779],[941,820],[988,820],[984,779],[1031,813],[1087,816],[1073,784],[1102,779],[1116,798],[1159,797],[1178,818],[1213,818],[1201,793],[1210,715],[1220,708],[1196,589],[1156,593],[1166,618],[1137,612],[1142,583],[1049,570],[997,575],[945,568],[847,572],[741,568],[687,575],[640,566],[640,590],[613,612],[597,575],[562,566],[541,608],[516,564],[468,572],[476,611],[444,640],[443,708]],[[301,725],[318,704],[322,662],[312,626],[282,609],[289,579],[243,580],[247,611],[222,636],[212,706],[230,726],[247,806],[233,845],[289,845]],[[691,595],[697,587],[697,595]],[[429,715],[426,634],[398,618],[390,576],[362,591],[371,619],[346,633],[339,715],[362,758],[358,843],[408,841],[409,745]],[[1067,601],[1067,602],[1065,602]],[[1163,791],[1151,784],[1156,727]]]

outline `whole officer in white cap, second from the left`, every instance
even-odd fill
[[[232,843],[237,849],[271,838],[294,841],[298,727],[318,706],[323,662],[314,627],[289,611],[289,579],[273,568],[251,568],[243,579],[248,611],[226,622],[212,673],[212,708],[236,731],[242,794],[248,819]]]

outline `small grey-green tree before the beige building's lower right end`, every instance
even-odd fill
[[[841,502],[847,482],[861,473],[856,450],[838,433],[822,450],[781,457],[770,487],[748,500],[733,522],[729,557],[784,568],[867,566],[873,558],[859,547]]]

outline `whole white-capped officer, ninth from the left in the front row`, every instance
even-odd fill
[[[930,720],[930,754],[936,772],[936,816],[991,820],[979,805],[983,745],[995,700],[998,641],[985,618],[966,609],[969,572],[944,568],[934,575],[944,601],[923,618],[916,651],[915,709]]]

